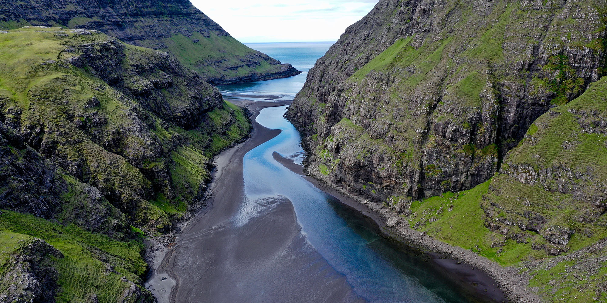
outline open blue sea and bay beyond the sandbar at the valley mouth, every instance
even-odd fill
[[[280,62],[290,63],[293,67],[303,73],[284,79],[219,85],[217,88],[219,88],[220,92],[222,92],[226,98],[243,98],[255,101],[271,99],[293,100],[296,93],[304,86],[308,71],[310,68],[314,67],[316,59],[325,55],[333,43],[334,42],[288,42],[247,44],[248,47],[259,50]],[[239,94],[257,95],[260,97],[239,97]],[[274,95],[280,98],[262,98],[262,96],[265,95]]]

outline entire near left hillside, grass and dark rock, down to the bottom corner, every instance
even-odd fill
[[[0,302],[152,301],[140,228],[200,204],[250,128],[203,80],[97,31],[0,32]]]

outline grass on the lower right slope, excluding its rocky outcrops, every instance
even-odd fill
[[[585,181],[580,178],[578,186],[586,191],[604,188],[600,184],[607,182],[607,136],[605,133],[582,132],[572,112],[594,113],[594,119],[607,116],[606,92],[607,78],[602,78],[579,98],[554,108],[557,115],[546,113],[538,118],[534,124],[540,127],[531,127],[526,139],[506,156],[506,167],[501,171],[516,175],[508,166],[520,164],[531,164],[537,171],[544,167],[565,165],[573,171],[586,172],[586,167],[592,167],[588,173],[592,178]],[[565,149],[562,145],[566,141],[578,143],[575,148]],[[600,262],[603,265],[599,267],[572,270],[582,268],[589,259],[602,259],[607,255],[607,248],[599,247],[589,252],[584,250],[575,258],[567,258],[607,239],[604,208],[595,207],[591,201],[561,193],[555,188],[544,189],[549,184],[523,184],[509,174],[498,173],[490,181],[471,190],[414,201],[411,207],[413,215],[408,218],[410,225],[449,244],[476,251],[502,265],[524,266],[523,261],[543,260],[539,265],[529,265],[532,275],[530,287],[538,287],[535,290],[548,301],[564,299],[567,302],[591,302],[592,298],[607,299],[607,290],[602,286],[607,273],[602,267],[605,262]],[[492,209],[491,205],[498,207]],[[492,220],[487,218],[485,210],[496,212],[492,214],[493,219],[512,222],[524,221],[524,212],[531,211],[548,219],[546,227],[559,226],[574,230],[566,245],[566,261],[551,262],[550,258],[554,256],[548,255],[543,249],[534,249],[534,245],[549,245],[535,231],[523,231],[516,225],[503,225],[499,230],[490,230],[486,225]],[[586,219],[581,222],[580,218]],[[501,232],[502,228],[508,228],[506,235]],[[526,242],[509,239],[512,233],[523,233]],[[548,284],[549,281],[552,284]]]

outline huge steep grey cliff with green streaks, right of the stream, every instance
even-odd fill
[[[466,190],[605,67],[604,1],[380,1],[310,71],[288,111],[313,161],[406,207]]]

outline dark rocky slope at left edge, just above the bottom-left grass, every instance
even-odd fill
[[[0,208],[61,219],[117,239],[131,225],[97,188],[75,181],[0,122]]]

